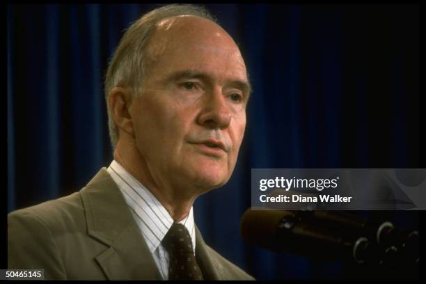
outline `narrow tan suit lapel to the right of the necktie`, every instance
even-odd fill
[[[223,267],[212,257],[212,253],[208,251],[208,246],[205,244],[200,230],[196,229],[196,256],[198,263],[203,270],[205,280],[221,280],[223,277]]]

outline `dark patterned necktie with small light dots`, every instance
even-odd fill
[[[192,248],[191,236],[185,226],[173,223],[162,241],[168,251],[168,280],[203,280]]]

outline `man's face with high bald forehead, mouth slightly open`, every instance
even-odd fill
[[[235,42],[199,17],[171,17],[148,47],[148,74],[132,102],[136,146],[159,187],[225,184],[246,126],[248,80]]]

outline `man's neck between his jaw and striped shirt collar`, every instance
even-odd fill
[[[113,152],[114,159],[131,175],[148,189],[166,208],[173,221],[178,222],[188,216],[197,196],[184,195],[184,189],[170,187],[165,178],[155,179],[149,171],[148,164],[132,141],[119,139]]]

